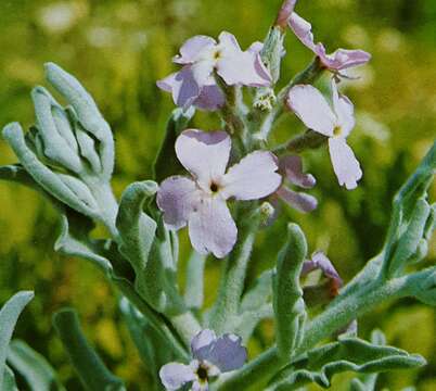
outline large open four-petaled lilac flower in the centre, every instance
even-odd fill
[[[157,205],[169,228],[188,224],[193,248],[201,254],[226,256],[236,241],[238,228],[227,200],[257,200],[281,184],[277,157],[254,151],[226,173],[231,150],[225,131],[184,130],[176,141],[176,154],[192,178],[172,176],[157,192]]]

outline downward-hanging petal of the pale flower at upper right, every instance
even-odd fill
[[[362,177],[362,171],[351,148],[344,138],[333,137],[329,139],[329,151],[339,185],[348,190],[355,189]]]

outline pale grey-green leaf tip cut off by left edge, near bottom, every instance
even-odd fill
[[[0,310],[0,384],[3,384],[8,348],[16,321],[31,299],[34,299],[34,292],[21,291],[15,293]]]

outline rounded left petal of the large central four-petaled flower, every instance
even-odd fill
[[[157,206],[164,212],[164,222],[172,229],[180,229],[188,223],[189,216],[198,201],[195,182],[182,176],[165,179],[157,191]]]

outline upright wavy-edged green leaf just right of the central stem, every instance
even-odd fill
[[[275,341],[283,360],[291,357],[304,336],[307,314],[299,276],[306,254],[305,235],[296,224],[290,224],[286,243],[279,253],[273,276]]]

